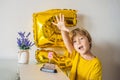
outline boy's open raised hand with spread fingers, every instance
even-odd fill
[[[56,17],[57,23],[55,22],[52,22],[52,23],[56,25],[59,30],[69,32],[69,29],[65,26],[64,15],[60,13],[59,16],[55,16],[55,17]]]

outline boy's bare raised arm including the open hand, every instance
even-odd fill
[[[73,48],[72,42],[69,37],[70,30],[65,26],[64,15],[59,14],[59,17],[56,16],[56,20],[57,20],[57,23],[55,23],[55,22],[52,22],[52,23],[54,25],[56,25],[58,27],[58,29],[61,31],[63,42],[64,42],[67,50],[69,51],[69,53],[72,53],[74,48]]]

